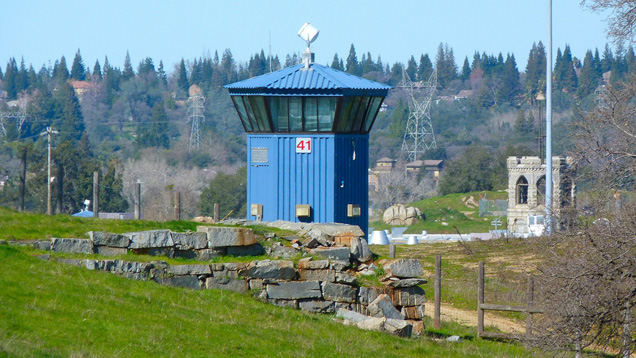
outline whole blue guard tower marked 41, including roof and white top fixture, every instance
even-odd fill
[[[313,63],[317,33],[302,64],[225,86],[247,132],[247,219],[367,233],[369,131],[391,87]]]

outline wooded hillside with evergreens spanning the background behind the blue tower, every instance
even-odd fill
[[[564,124],[572,121],[572,106],[577,103],[582,109],[591,108],[594,91],[603,84],[602,74],[611,70],[610,83],[618,83],[636,68],[634,59],[631,47],[612,50],[606,46],[602,54],[598,49],[589,50],[583,60],[574,56],[569,46],[557,51],[554,109],[559,130],[555,132],[562,136],[557,138],[555,148],[560,153],[571,148]],[[199,196],[212,177],[218,172],[233,174],[245,160],[243,128],[222,86],[298,62],[296,55],[286,56],[283,61],[277,56],[268,58],[263,51],[241,61],[234,59],[229,49],[183,59],[173,69],[148,57],[135,67],[128,53],[123,68],[112,66],[107,57],[90,66],[79,50],[70,65],[62,57],[39,70],[24,59],[18,63],[11,58],[0,68],[0,90],[7,94],[0,110],[19,112],[22,106],[26,117],[24,122],[15,118],[3,122],[0,179],[6,183],[0,190],[0,205],[45,210],[47,142],[40,133],[52,127],[59,131],[52,136],[56,212],[77,212],[81,203],[90,199],[92,173],[98,171],[110,178],[102,182],[100,200],[109,211],[124,211],[132,205],[134,189],[122,183],[128,175],[129,183],[142,181],[143,190],[153,193],[152,199],[162,198],[145,212],[149,218],[166,219],[165,208],[171,203],[165,198],[175,191],[192,203],[188,216],[199,214]],[[537,153],[541,104],[536,94],[545,87],[545,62],[540,42],[532,46],[522,69],[514,54],[476,52],[472,59],[461,61],[448,44],[440,44],[434,56],[422,54],[411,56],[404,64],[388,64],[370,52],[359,57],[352,44],[347,56],[334,55],[331,66],[391,85],[399,83],[403,67],[414,81],[427,80],[433,70],[437,71],[439,88],[431,113],[439,149],[427,152],[426,157],[445,159],[452,168],[461,165],[462,160],[471,160],[474,148],[484,148],[484,155],[472,166],[492,170],[489,180],[479,182],[470,179],[470,173],[459,173],[465,183],[444,186],[443,192],[448,193],[500,189],[502,168],[498,164],[492,168],[491,163],[499,161],[486,162],[487,157]],[[200,148],[189,150],[186,101],[194,84],[206,97],[206,120],[201,124]],[[461,90],[465,90],[462,96],[456,97]],[[12,100],[17,102],[9,107]],[[386,103],[388,110],[380,113],[371,132],[371,164],[384,156],[401,156],[408,117],[406,98],[396,90]],[[459,163],[453,164],[456,160]],[[139,172],[136,178],[127,174],[147,162],[161,162],[196,179],[164,175],[160,181],[143,178]],[[207,170],[207,174],[198,175],[197,170]],[[185,182],[188,184],[181,185]]]

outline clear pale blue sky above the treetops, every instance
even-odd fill
[[[78,49],[84,64],[95,60],[122,66],[129,51],[133,67],[146,57],[163,60],[168,72],[181,58],[219,56],[226,48],[241,62],[261,49],[281,61],[304,50],[296,33],[305,22],[320,30],[312,45],[316,62],[330,64],[335,53],[346,59],[353,43],[358,60],[370,52],[386,64],[434,61],[440,42],[453,48],[461,66],[475,51],[514,53],[520,70],[533,42],[547,42],[547,0],[0,0],[0,67],[10,57],[38,70]],[[605,43],[605,18],[578,0],[555,0],[553,41],[569,44],[582,58]]]

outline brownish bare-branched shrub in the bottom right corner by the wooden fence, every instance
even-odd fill
[[[636,304],[636,205],[603,215],[576,235],[544,238],[540,245],[544,263],[538,284],[546,314],[534,327],[531,343],[580,354],[586,347],[614,342],[629,356]]]

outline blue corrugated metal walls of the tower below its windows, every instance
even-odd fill
[[[311,153],[296,153],[296,138],[311,138]],[[263,205],[264,221],[297,222],[296,204],[308,204],[312,216],[303,221],[367,232],[368,142],[368,135],[248,135],[248,207]],[[268,163],[252,163],[253,147],[268,148]],[[361,216],[347,217],[348,204],[360,205]],[[247,218],[256,219],[249,211]]]

